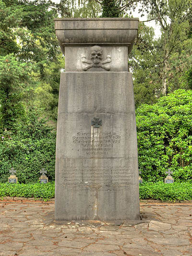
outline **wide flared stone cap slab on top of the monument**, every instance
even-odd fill
[[[55,19],[55,31],[63,53],[75,45],[125,45],[130,53],[138,23],[137,18]]]

